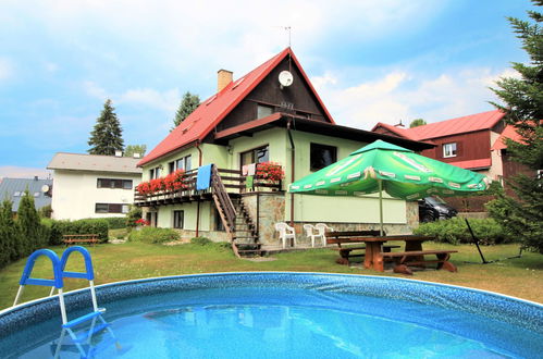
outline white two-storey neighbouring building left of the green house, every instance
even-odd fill
[[[141,181],[140,159],[59,152],[47,166],[54,170],[52,218],[81,220],[123,216]]]

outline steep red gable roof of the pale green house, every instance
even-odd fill
[[[229,84],[218,94],[203,101],[188,117],[173,129],[157,147],[155,147],[139,163],[141,166],[166,153],[195,141],[201,141],[260,82],[286,57],[291,54],[304,79],[313,91],[326,116],[334,120],[324,103],[312,87],[304,69],[291,48],[286,48],[245,76]]]

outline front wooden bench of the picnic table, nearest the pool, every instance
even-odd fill
[[[394,260],[394,273],[412,274],[408,265],[425,267],[428,263],[437,263],[437,270],[445,269],[449,272],[456,272],[455,264],[448,259],[451,253],[456,253],[458,250],[415,250],[415,251],[382,251],[380,255],[384,259],[391,258]],[[437,259],[425,260],[424,256],[434,255]]]

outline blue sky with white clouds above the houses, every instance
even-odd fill
[[[525,0],[0,2],[0,177],[85,153],[111,98],[125,145],[150,150],[182,95],[243,76],[288,45],[334,120],[427,122],[492,110],[488,88],[526,62],[505,18]]]

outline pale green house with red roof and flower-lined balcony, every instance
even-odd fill
[[[297,245],[305,223],[374,228],[378,200],[287,194],[289,183],[377,139],[416,151],[432,144],[337,124],[291,48],[246,75],[218,72],[218,91],[139,163],[135,203],[151,225],[183,237],[231,240],[234,250],[280,247],[276,222],[289,222]],[[212,164],[210,168],[209,164]],[[385,200],[388,233],[410,233],[417,205]]]

